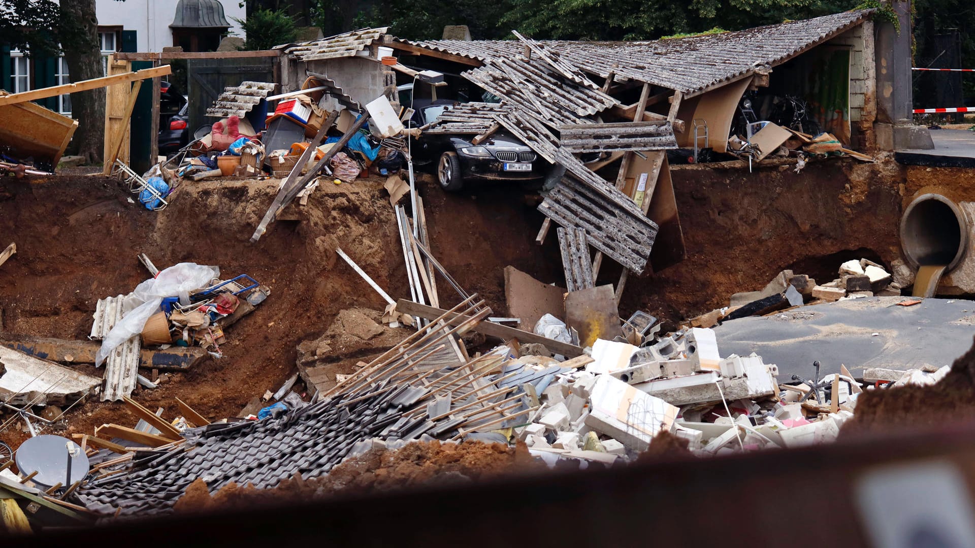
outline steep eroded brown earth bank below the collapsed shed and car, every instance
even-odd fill
[[[832,279],[840,260],[897,256],[903,175],[895,164],[833,160],[810,164],[801,174],[788,170],[674,170],[687,258],[663,272],[631,277],[621,315],[643,309],[679,321],[725,305],[735,292],[761,289],[785,268],[824,279],[829,271]],[[282,215],[292,220],[273,223],[251,244],[277,181],[187,183],[169,208],[154,213],[130,203],[133,195],[101,176],[5,179],[0,242],[15,241],[18,254],[0,267],[0,329],[86,336],[98,298],[128,293],[148,276],[139,253],[159,267],[195,261],[219,265],[224,277],[250,274],[272,294],[228,329],[225,357],[136,395],[146,407],[164,408],[167,417],[177,413],[176,397],[211,418],[236,415],[292,374],[296,346],[323,335],[340,310],[385,306],[332,252],[336,245],[387,293],[409,295],[395,215],[381,182],[323,186],[306,207]],[[508,264],[543,282],[563,283],[554,232],[543,246],[534,243],[543,217],[533,192],[493,183],[448,194],[430,176],[421,176],[417,187],[434,254],[495,314],[507,314]],[[617,281],[619,268],[611,262],[604,262],[600,283]],[[438,285],[443,306],[459,301],[446,280]],[[91,433],[113,421],[132,424],[136,417],[121,404],[88,402],[71,411],[70,428]],[[15,447],[23,437],[13,429],[0,433]]]

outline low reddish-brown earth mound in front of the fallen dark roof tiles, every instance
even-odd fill
[[[328,476],[310,480],[295,476],[275,489],[231,484],[211,495],[203,480],[196,480],[176,501],[176,512],[228,510],[335,494],[463,484],[546,470],[545,464],[532,457],[523,443],[512,448],[483,442],[416,442],[400,450],[370,450],[334,467]]]

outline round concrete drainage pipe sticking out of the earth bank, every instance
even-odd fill
[[[968,223],[956,204],[941,194],[921,194],[901,216],[901,249],[911,266],[948,265],[965,254]]]

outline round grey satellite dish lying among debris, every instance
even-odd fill
[[[14,457],[20,474],[34,472],[31,481],[39,486],[64,487],[81,481],[88,475],[88,455],[81,446],[61,436],[35,436],[20,444]],[[70,477],[68,475],[70,474]]]

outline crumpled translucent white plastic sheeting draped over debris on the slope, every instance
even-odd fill
[[[95,356],[95,365],[100,366],[116,346],[142,333],[146,320],[159,310],[163,297],[205,288],[210,285],[211,280],[219,276],[220,269],[214,266],[180,262],[160,271],[155,278],[139,284],[123,303],[123,310],[128,312],[101,341],[101,348]]]

